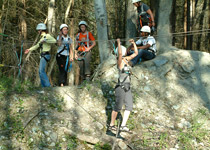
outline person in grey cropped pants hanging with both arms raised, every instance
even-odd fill
[[[119,69],[119,79],[115,87],[115,97],[116,103],[114,110],[112,111],[111,122],[109,125],[109,130],[117,130],[115,126],[115,120],[118,112],[121,111],[123,104],[125,104],[125,112],[123,115],[123,121],[120,126],[121,131],[129,131],[129,128],[126,126],[127,120],[129,118],[130,112],[133,109],[133,99],[130,89],[130,66],[128,62],[135,58],[138,55],[137,46],[134,40],[130,40],[134,47],[134,53],[130,56],[126,56],[126,49],[122,49],[120,45],[120,39],[117,39],[118,43],[118,60],[117,66]],[[122,51],[123,50],[123,51]]]

